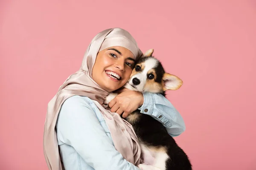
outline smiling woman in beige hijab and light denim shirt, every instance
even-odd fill
[[[79,71],[48,104],[44,156],[50,170],[138,170],[140,145],[121,118],[123,112],[126,117],[139,108],[162,122],[172,136],[185,130],[180,114],[159,94],[127,90],[111,101],[111,111],[102,106],[105,96],[127,82],[142,55],[131,34],[121,28],[93,38]]]

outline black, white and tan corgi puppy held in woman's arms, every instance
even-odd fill
[[[182,80],[166,73],[159,60],[152,57],[153,49],[135,65],[125,88],[133,91],[148,91],[165,96],[167,90],[177,90]],[[105,99],[108,104],[117,94],[111,93]],[[126,118],[134,128],[142,149],[142,170],[192,170],[186,153],[177,145],[162,123],[136,110]]]

